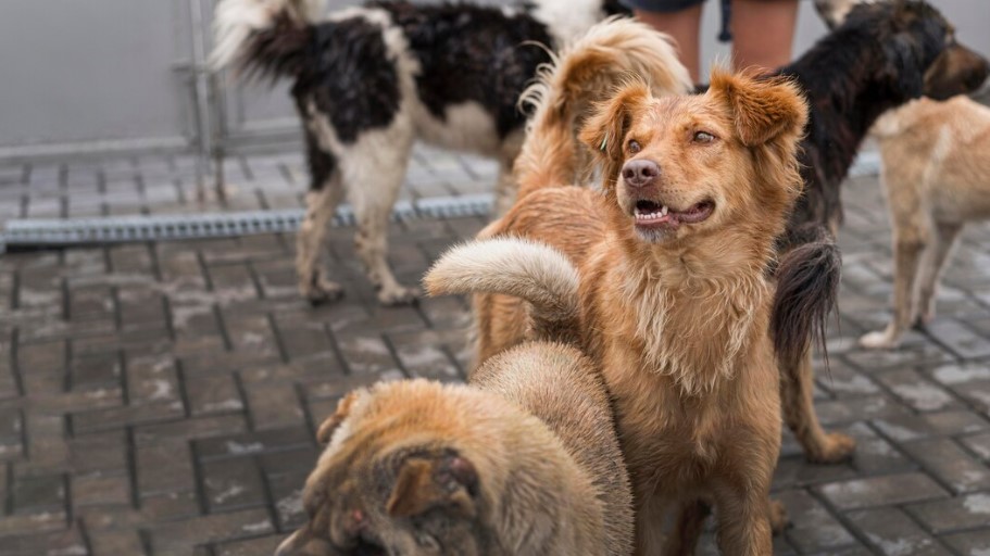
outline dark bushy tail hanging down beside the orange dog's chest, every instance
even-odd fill
[[[825,345],[825,319],[835,307],[842,260],[823,226],[803,230],[780,258],[770,329],[784,369],[797,369],[813,340]]]

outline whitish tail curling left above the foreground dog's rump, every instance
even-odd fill
[[[560,251],[518,238],[478,240],[451,248],[423,279],[430,295],[503,293],[530,304],[534,336],[576,342],[577,269]]]

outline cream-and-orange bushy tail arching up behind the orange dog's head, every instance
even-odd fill
[[[687,68],[666,35],[628,17],[610,17],[564,47],[540,70],[519,103],[532,110],[516,159],[519,197],[542,187],[572,185],[587,172],[576,134],[591,106],[630,77],[656,94],[690,91]]]

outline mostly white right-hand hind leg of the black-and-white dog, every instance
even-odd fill
[[[358,217],[358,256],[378,289],[378,302],[402,305],[414,302],[419,290],[400,285],[392,274],[388,264],[388,223],[409,165],[412,130],[397,124],[375,139],[361,140],[348,149],[341,168]]]

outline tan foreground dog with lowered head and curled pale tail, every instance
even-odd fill
[[[352,392],[319,428],[288,555],[574,556],[632,549],[632,495],[601,375],[531,342],[473,387]]]

